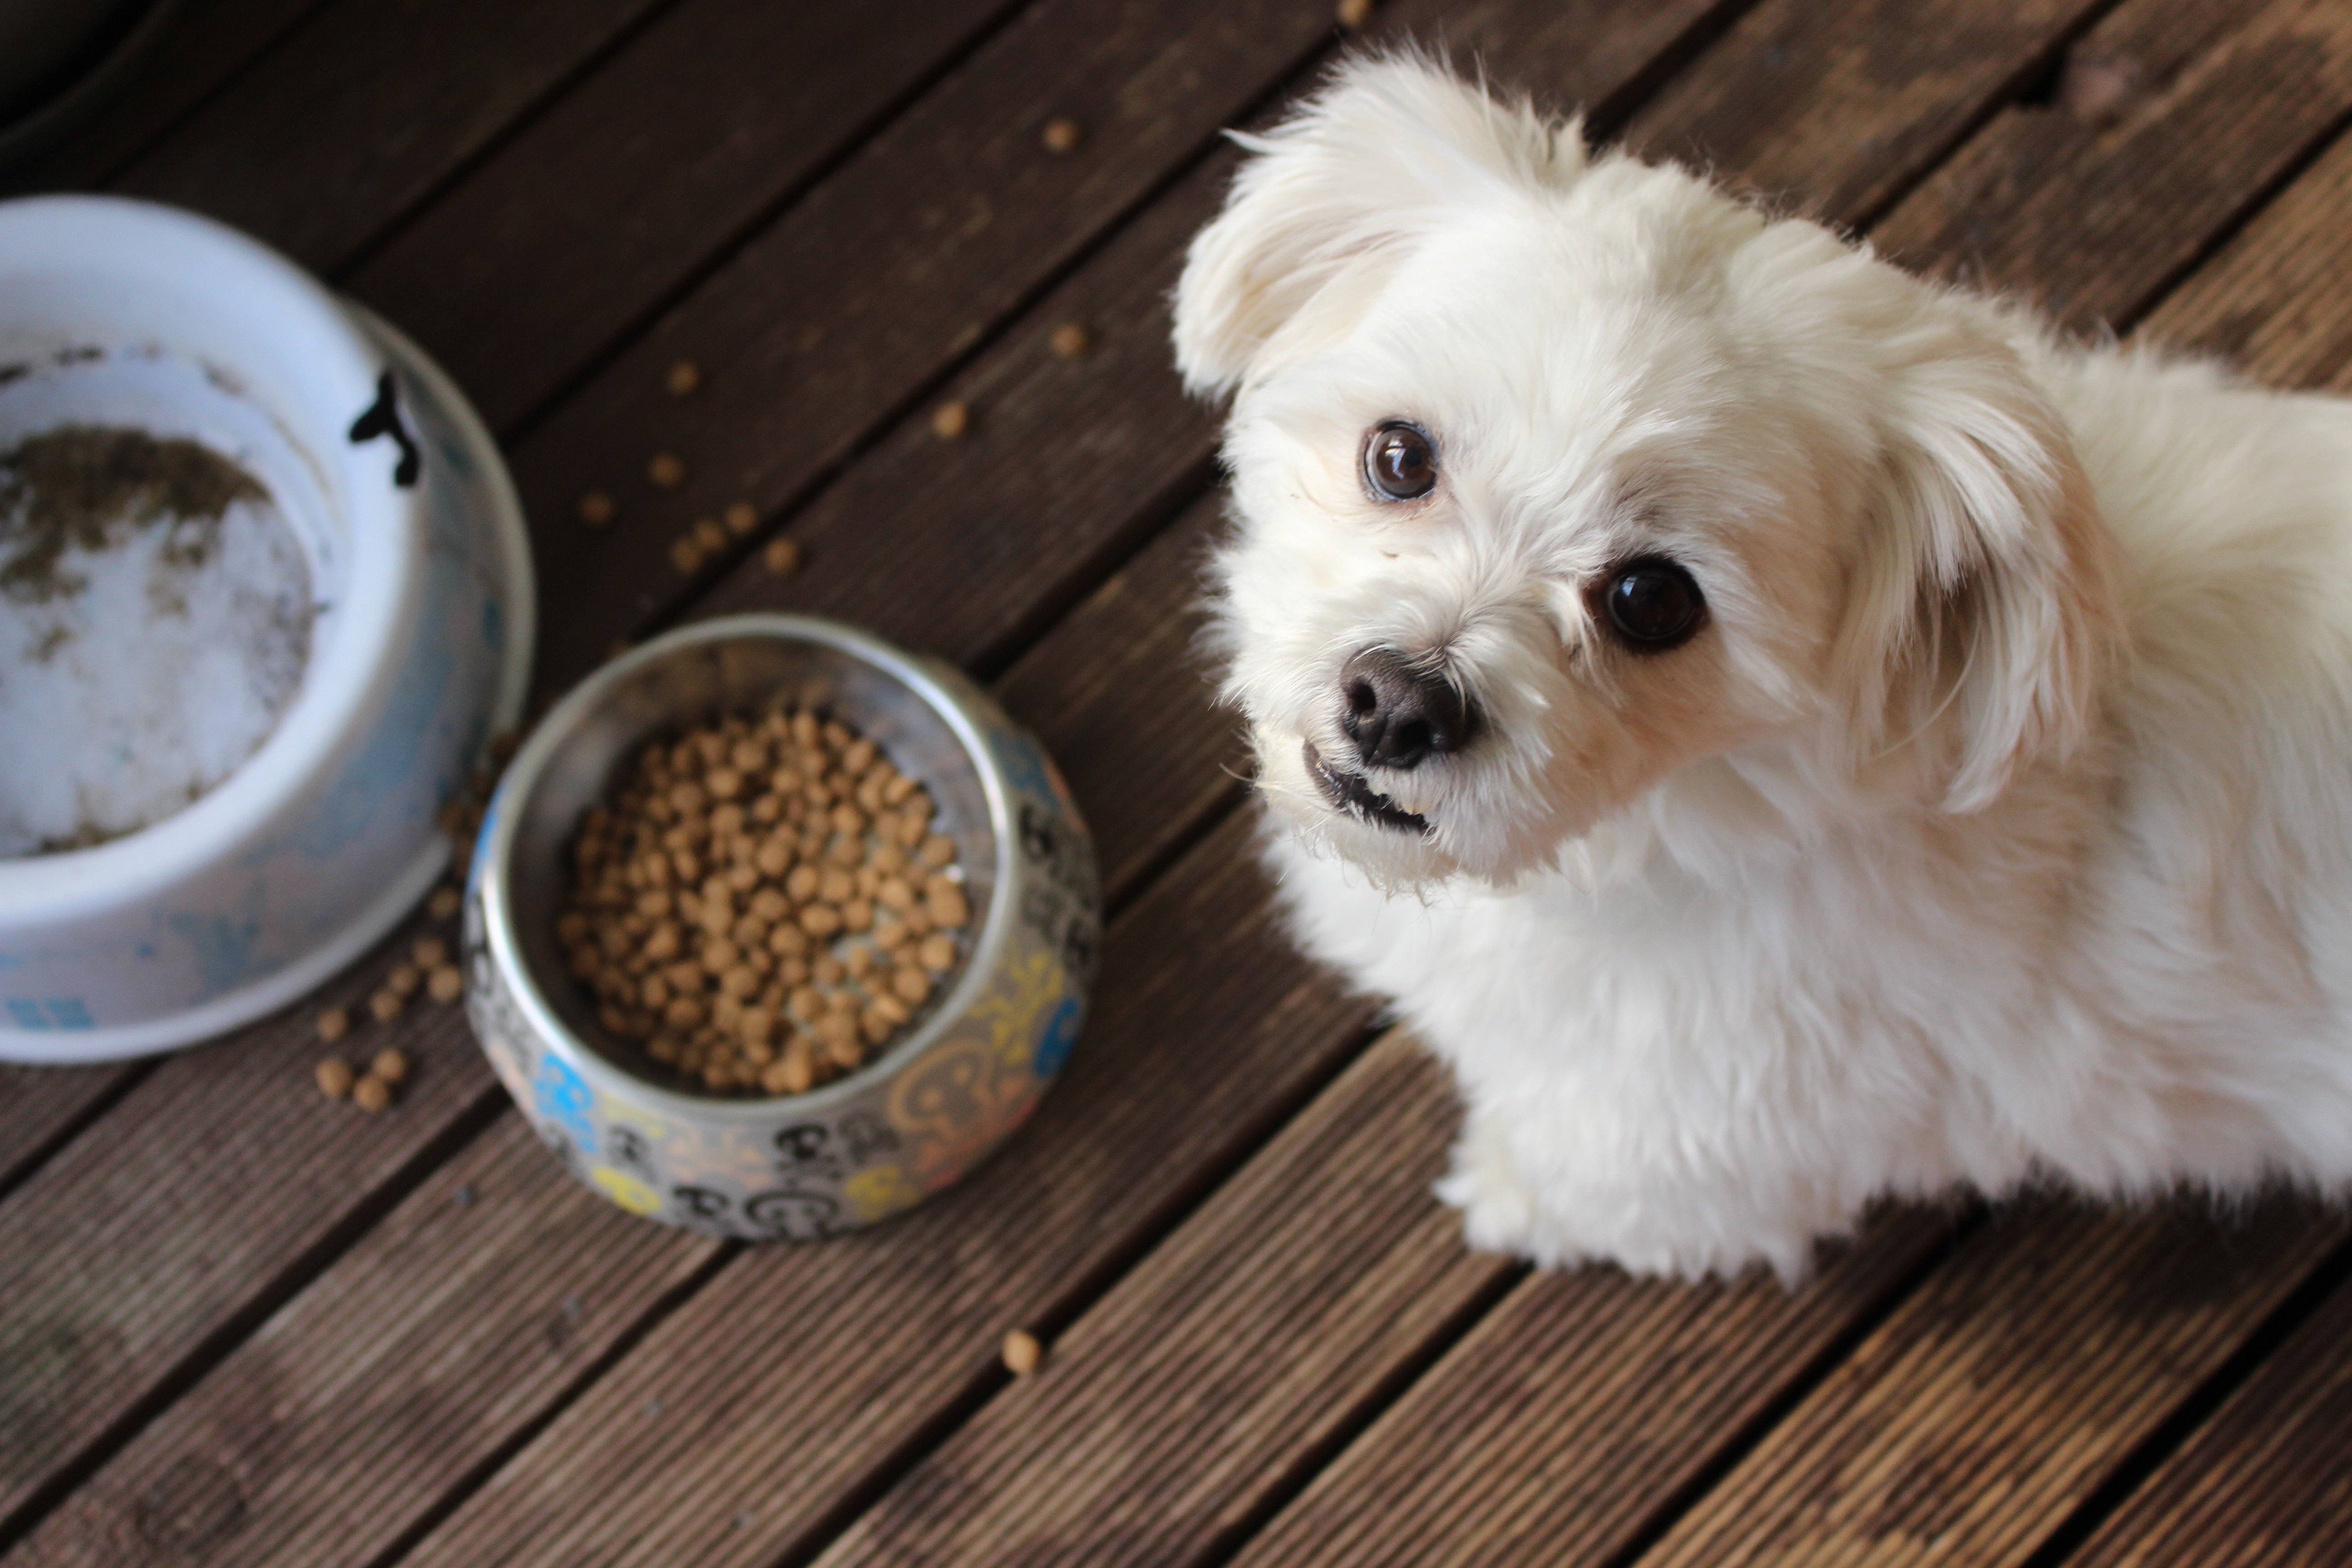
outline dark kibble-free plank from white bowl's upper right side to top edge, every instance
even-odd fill
[[[1004,0],[687,0],[350,275],[508,428]],[[821,68],[811,68],[821,61]]]

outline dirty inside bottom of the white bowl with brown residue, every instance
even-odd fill
[[[278,726],[310,567],[268,487],[174,435],[68,423],[0,454],[0,860],[181,811]]]

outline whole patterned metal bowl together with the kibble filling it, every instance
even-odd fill
[[[468,1009],[604,1197],[809,1239],[1028,1117],[1098,919],[1068,790],[985,693],[844,625],[736,616],[614,661],[508,766]]]

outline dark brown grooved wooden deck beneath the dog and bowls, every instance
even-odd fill
[[[572,1185],[454,1009],[372,1037],[419,1058],[376,1119],[310,1086],[310,1006],[0,1070],[0,1561],[2352,1561],[2343,1211],[1889,1213],[1795,1295],[1463,1251],[1449,1088],[1268,931],[1188,656],[1214,414],[1164,299],[1218,127],[1348,47],[1329,0],[188,12],[14,188],[219,214],[440,355],[532,512],[546,691],[743,607],[962,661],[1063,759],[1112,922],[1040,1117],[821,1246]],[[2340,2],[1395,0],[1367,33],[2079,327],[2352,383]],[[760,531],[680,574],[736,498]]]

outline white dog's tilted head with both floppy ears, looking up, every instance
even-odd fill
[[[1176,362],[1294,825],[1508,879],[1677,783],[1966,811],[2084,736],[2105,534],[1990,306],[1421,59],[1244,146]]]

